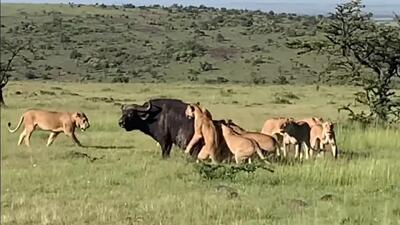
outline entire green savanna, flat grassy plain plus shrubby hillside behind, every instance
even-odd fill
[[[288,44],[322,37],[320,19],[2,3],[2,40],[33,51],[21,51],[3,89],[1,223],[399,225],[398,124],[349,122],[338,108],[366,110],[354,100],[361,87],[344,85],[339,72],[323,77],[326,55]],[[251,131],[273,117],[322,117],[335,122],[339,157],[300,162],[290,152],[272,160],[273,172],[226,163],[213,171],[177,147],[162,159],[149,136],[118,125],[121,104],[154,98],[200,102],[213,119]],[[64,134],[46,147],[44,131],[31,149],[17,146],[23,128],[11,134],[7,123],[14,128],[29,108],[84,112],[91,126],[76,131],[84,147]]]

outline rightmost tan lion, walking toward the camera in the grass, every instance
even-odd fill
[[[334,124],[330,121],[311,127],[310,144],[315,151],[321,152],[322,155],[325,145],[330,144],[332,156],[337,158],[336,137],[333,128]]]

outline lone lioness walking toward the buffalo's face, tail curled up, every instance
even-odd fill
[[[89,120],[83,112],[53,112],[42,109],[30,109],[25,111],[15,129],[11,129],[11,123],[8,122],[8,130],[14,133],[24,122],[25,129],[19,136],[18,145],[21,145],[25,139],[26,146],[30,147],[30,137],[36,127],[41,130],[50,131],[47,146],[50,146],[57,135],[64,133],[72,138],[75,144],[82,146],[75,136],[75,128],[79,127],[85,131],[90,127]]]

